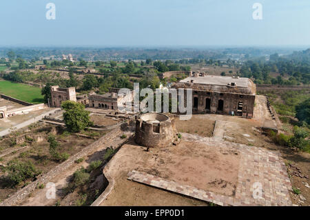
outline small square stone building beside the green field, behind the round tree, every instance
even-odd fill
[[[76,101],[75,88],[59,88],[59,86],[50,87],[51,107],[60,108],[63,101]]]

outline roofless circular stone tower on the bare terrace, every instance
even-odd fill
[[[136,119],[136,143],[149,148],[164,148],[174,140],[174,119],[165,114],[147,113]]]

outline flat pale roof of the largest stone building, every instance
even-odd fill
[[[211,76],[205,75],[205,77],[187,77],[180,80],[180,83],[200,83],[212,86],[227,86],[227,84],[236,83],[237,87],[251,88],[251,80],[245,77],[233,78],[233,77],[221,77],[221,76]]]

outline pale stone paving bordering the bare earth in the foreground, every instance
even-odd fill
[[[234,196],[227,197],[194,186],[185,186],[136,170],[129,173],[128,179],[219,206],[292,206],[289,196],[291,181],[279,152],[187,133],[182,133],[182,138],[215,148],[232,147],[240,153],[238,183]]]

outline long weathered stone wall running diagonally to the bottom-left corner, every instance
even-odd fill
[[[124,126],[126,126],[127,123],[124,123]],[[124,126],[121,126],[122,128]],[[37,177],[37,180],[30,183],[28,186],[25,186],[15,194],[12,194],[8,199],[2,201],[0,203],[0,206],[18,206],[18,204],[25,199],[25,197],[30,194],[33,190],[37,188],[39,184],[47,184],[50,182],[56,175],[60,174],[64,170],[67,170],[74,164],[74,161],[77,159],[80,159],[81,157],[86,157],[88,154],[91,154],[92,152],[96,151],[99,146],[104,145],[107,143],[107,141],[111,141],[112,139],[119,137],[123,132],[122,128],[116,128],[112,130],[111,132],[105,134],[105,136],[101,137],[101,139],[95,141],[94,143],[90,144],[90,146],[87,146],[83,148],[80,152],[74,154],[72,157],[70,157],[67,161],[59,164],[59,166],[56,166],[50,172],[47,174],[43,174],[39,177]]]

